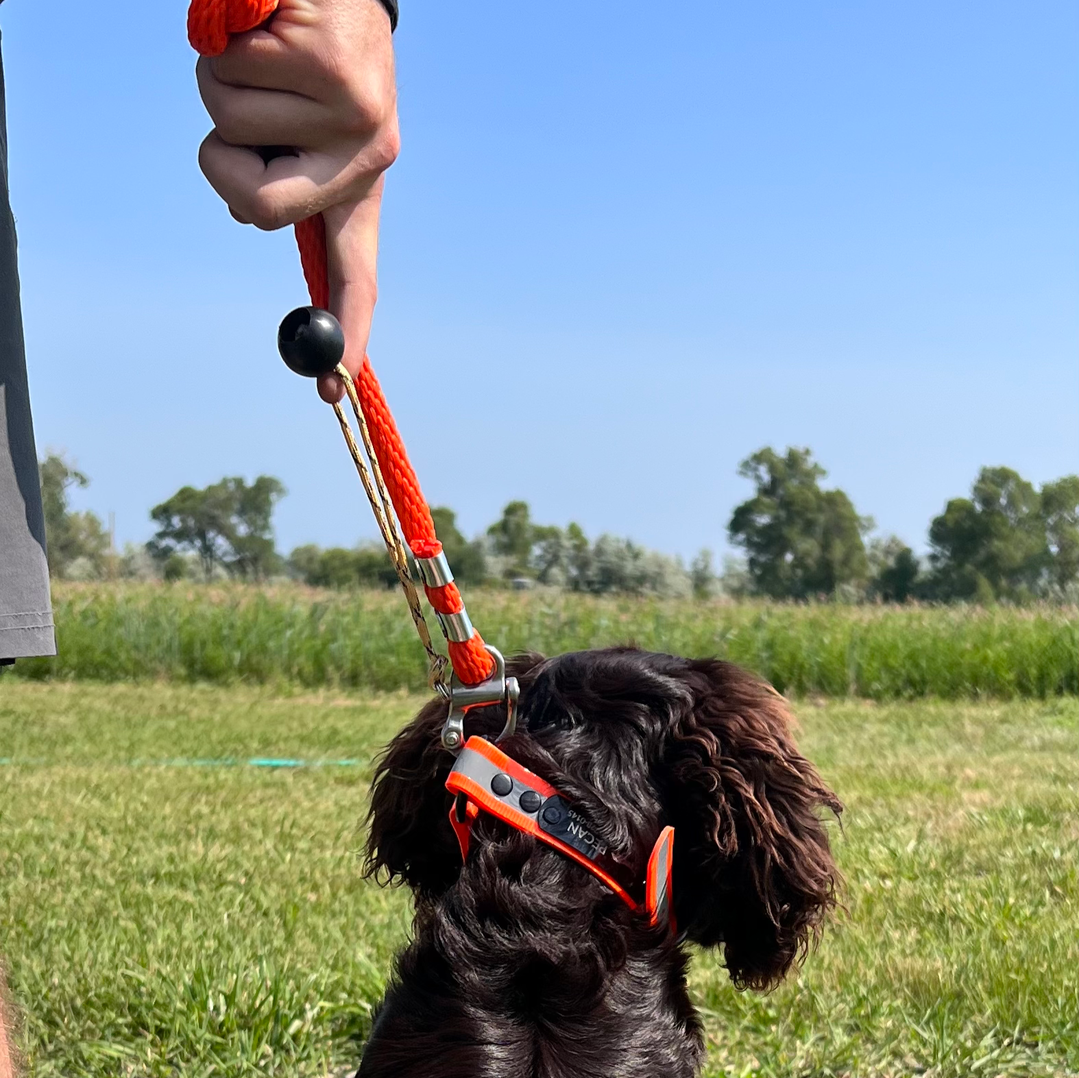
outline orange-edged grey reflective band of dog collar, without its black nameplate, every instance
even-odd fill
[[[492,789],[492,781],[497,775],[506,775],[513,780],[511,788],[505,794],[498,794]],[[470,737],[464,749],[457,755],[453,770],[446,780],[446,789],[456,794],[457,799],[466,800],[464,819],[457,814],[456,802],[450,808],[450,823],[461,846],[461,859],[468,856],[468,841],[472,824],[479,815],[479,809],[503,820],[510,827],[532,835],[551,849],[576,861],[587,869],[605,887],[614,891],[636,913],[647,912],[652,924],[666,922],[673,929],[673,910],[671,908],[671,865],[674,851],[674,829],[664,828],[652,848],[648,868],[645,876],[645,901],[643,908],[629,893],[626,886],[605,872],[591,858],[556,835],[549,834],[540,825],[540,814],[546,802],[556,797],[561,802],[558,791],[549,783],[522,767],[516,760],[507,756],[501,749],[481,737]],[[528,811],[521,807],[520,797],[525,791],[534,791],[538,795],[536,807]],[[563,802],[564,803],[564,802]]]

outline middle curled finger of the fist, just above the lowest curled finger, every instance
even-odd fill
[[[311,149],[340,138],[340,122],[309,97],[230,86],[201,63],[195,70],[203,104],[224,142]]]

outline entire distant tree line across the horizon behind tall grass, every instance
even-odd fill
[[[738,474],[754,491],[727,526],[741,557],[728,557],[720,571],[707,549],[686,565],[628,538],[589,540],[576,523],[537,523],[522,501],[507,504],[472,540],[452,509],[434,508],[432,516],[454,575],[470,586],[884,602],[1079,599],[1079,476],[1039,489],[1011,468],[982,468],[969,496],[952,499],[932,519],[929,552],[919,558],[894,535],[873,535],[872,518],[844,491],[824,489],[827,473],[808,449],[761,449]],[[152,538],[122,554],[112,550],[98,517],[70,508],[69,491],[87,482],[60,454],[41,462],[49,564],[57,577],[291,577],[333,588],[396,583],[381,544],[308,544],[279,554],[273,511],[286,491],[272,476],[181,488],[150,510]]]

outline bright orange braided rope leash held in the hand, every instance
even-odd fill
[[[265,22],[276,6],[277,0],[192,0],[188,11],[188,39],[203,56],[216,56],[224,51],[230,33],[254,29]],[[315,306],[329,308],[326,227],[320,214],[296,223],[296,243],[311,302]],[[355,385],[405,542],[414,557],[433,558],[441,552],[442,544],[435,534],[435,522],[420,489],[420,480],[367,356],[364,356]],[[461,592],[452,582],[437,587],[425,584],[424,591],[439,614],[464,612]],[[494,672],[494,659],[478,632],[473,631],[464,641],[448,639],[446,645],[453,670],[464,684],[479,684]]]

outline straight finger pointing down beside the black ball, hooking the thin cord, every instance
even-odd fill
[[[326,267],[329,271],[330,313],[344,330],[344,358],[353,378],[367,354],[371,318],[378,297],[379,211],[382,178],[357,202],[345,202],[323,210],[326,222]],[[344,396],[337,374],[318,379],[318,395],[327,404]]]

